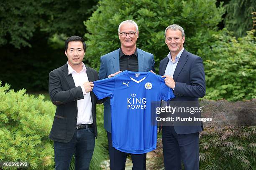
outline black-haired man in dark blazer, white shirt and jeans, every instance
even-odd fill
[[[82,37],[65,41],[68,62],[49,74],[49,94],[56,105],[49,138],[54,140],[56,170],[68,170],[75,154],[75,169],[88,170],[97,138],[96,99],[92,81],[97,71],[84,65]],[[100,102],[99,102],[100,103]]]

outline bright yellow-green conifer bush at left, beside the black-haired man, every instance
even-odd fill
[[[1,82],[0,82],[1,84]],[[53,143],[48,139],[55,107],[44,96],[0,85],[0,161],[28,162],[29,169],[54,167]]]

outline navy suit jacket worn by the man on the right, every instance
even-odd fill
[[[168,57],[160,61],[159,75],[164,75],[168,62]],[[174,71],[173,79],[176,83],[174,88],[176,97],[171,101],[195,101],[194,107],[199,107],[198,98],[205,96],[205,71],[202,58],[184,49]],[[203,130],[202,122],[195,122],[192,126],[177,125],[175,122],[173,125],[178,134],[197,133]]]

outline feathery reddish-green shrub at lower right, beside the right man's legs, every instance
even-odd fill
[[[256,169],[255,104],[255,99],[200,101],[202,117],[212,117],[212,121],[203,122],[204,130],[199,135],[200,170]],[[245,126],[246,120],[249,123]],[[148,168],[160,170],[164,167],[161,139],[153,152],[155,155]]]

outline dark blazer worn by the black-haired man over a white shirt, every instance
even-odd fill
[[[99,79],[96,70],[85,67],[89,81]],[[49,94],[51,102],[57,106],[49,138],[54,141],[68,143],[72,139],[77,125],[77,100],[83,99],[84,95],[82,88],[75,86],[72,74],[68,75],[67,63],[50,72]],[[90,95],[93,126],[97,138],[96,102],[98,104],[102,102],[97,101],[93,92],[90,92]]]

